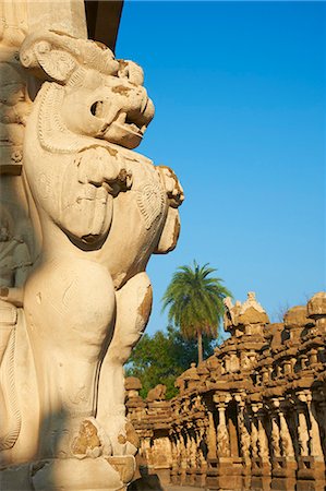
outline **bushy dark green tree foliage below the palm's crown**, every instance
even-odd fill
[[[203,339],[205,358],[213,355],[214,342]],[[184,339],[181,333],[170,326],[167,334],[157,331],[153,336],[144,334],[133,349],[125,367],[126,376],[141,379],[142,397],[146,397],[150,388],[157,384],[167,386],[167,398],[177,395],[174,381],[190,364],[196,361],[197,348],[194,339]]]

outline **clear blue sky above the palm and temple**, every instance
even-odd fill
[[[271,319],[325,289],[325,21],[321,2],[126,1],[117,57],[138,62],[156,116],[138,152],[185,192],[178,248],[152,258],[147,332],[196,259]]]

